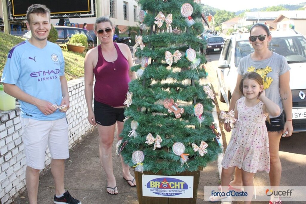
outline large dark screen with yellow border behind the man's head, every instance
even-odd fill
[[[91,13],[91,0],[11,0],[13,17],[24,17],[32,4],[46,5],[51,15]]]

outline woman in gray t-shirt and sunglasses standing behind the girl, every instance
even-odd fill
[[[254,52],[243,57],[239,63],[237,84],[230,100],[229,111],[234,109],[236,101],[241,98],[239,92],[239,83],[241,77],[246,72],[257,72],[263,78],[266,96],[278,104],[282,113],[278,117],[270,117],[270,123],[266,123],[269,135],[270,151],[270,185],[279,186],[281,180],[282,165],[278,155],[279,142],[282,134],[288,130],[288,135],[293,132],[292,126],[292,95],[289,87],[289,65],[284,56],[276,54],[268,49],[268,43],[271,41],[269,29],[264,24],[255,24],[250,29],[249,42],[254,48]],[[284,114],[286,121],[284,121]],[[231,131],[230,124],[224,124],[227,132]],[[231,181],[230,186],[242,186],[241,169],[235,169],[235,179]],[[248,186],[248,184],[244,184]],[[275,189],[274,189],[275,190]],[[272,197],[270,204],[279,204],[278,197]]]

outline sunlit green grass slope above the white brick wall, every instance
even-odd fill
[[[0,78],[2,76],[3,68],[6,63],[7,54],[13,46],[21,43],[24,39],[13,35],[7,35],[0,32]],[[74,53],[63,50],[65,58],[65,76],[67,80],[72,80],[84,76],[84,57],[85,54]]]

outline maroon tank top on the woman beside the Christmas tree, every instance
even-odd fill
[[[101,46],[98,46],[98,63],[95,66],[95,100],[109,106],[124,106],[126,93],[129,89],[129,62],[121,53],[117,43],[117,59],[108,62],[104,59]]]

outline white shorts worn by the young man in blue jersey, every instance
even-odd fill
[[[54,121],[20,117],[20,121],[24,152],[29,167],[44,168],[47,144],[52,159],[69,158],[69,126],[65,117]]]

